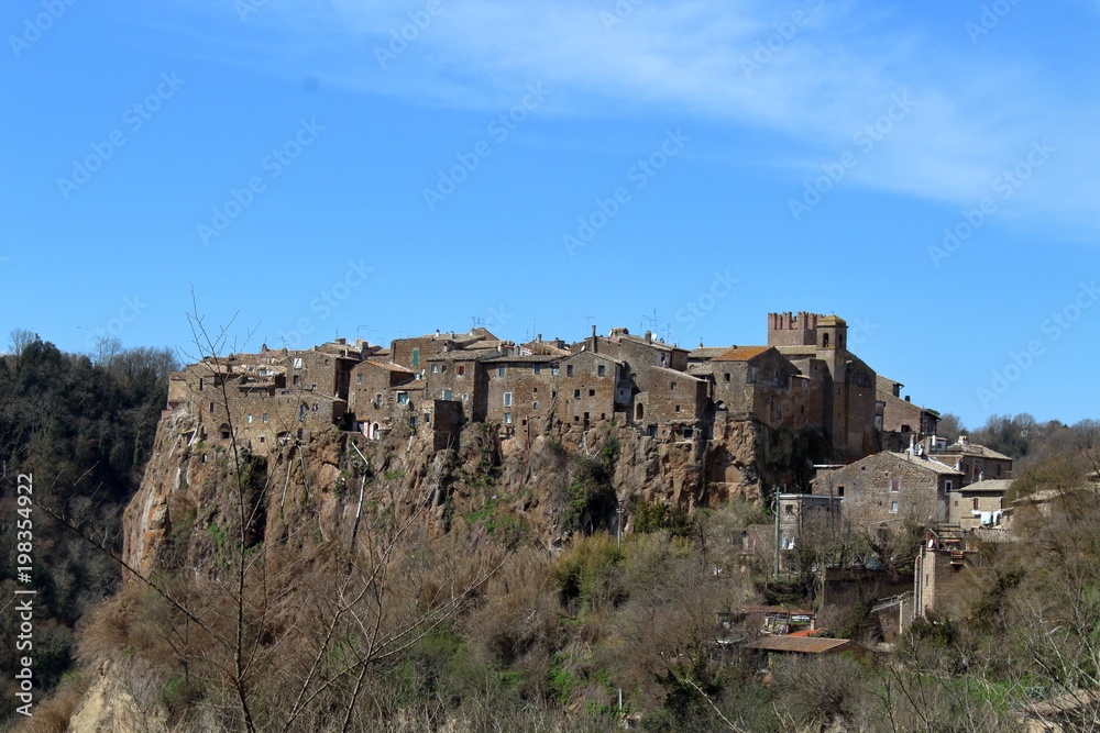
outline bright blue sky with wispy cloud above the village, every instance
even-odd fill
[[[1094,1],[12,0],[0,30],[3,333],[193,351],[193,288],[242,349],[654,314],[756,344],[807,310],[970,425],[1100,417]]]

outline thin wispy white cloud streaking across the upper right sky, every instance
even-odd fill
[[[860,158],[850,181],[965,204],[1033,140],[1047,138],[1059,148],[1052,175],[1021,187],[1012,207],[1091,216],[1100,193],[1100,151],[1085,134],[1100,111],[1093,96],[1067,93],[1072,86],[1048,91],[1035,70],[1043,66],[1022,54],[977,54],[961,21],[945,41],[855,1],[635,1],[619,0],[632,11],[608,27],[601,13],[615,12],[610,0],[439,0],[442,12],[385,69],[376,48],[426,3],[268,0],[249,24],[274,31],[268,64],[289,73],[308,59],[329,84],[419,103],[495,109],[540,80],[554,91],[547,114],[676,111],[771,131],[777,149],[785,140],[811,151],[798,160],[774,154],[795,186],[906,92],[914,109]],[[248,54],[255,63],[254,45]]]

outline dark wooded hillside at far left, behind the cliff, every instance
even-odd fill
[[[95,359],[64,354],[26,332],[0,357],[0,597],[13,597],[18,474],[34,477],[35,499],[113,551],[122,546],[122,510],[141,481],[164,407],[170,351],[122,349],[105,342]],[[74,629],[121,585],[119,566],[44,511],[35,510],[34,632],[36,687],[45,696],[74,664]],[[14,638],[15,618],[0,614]],[[0,646],[0,668],[15,669],[15,645]],[[15,699],[0,678],[0,720]]]

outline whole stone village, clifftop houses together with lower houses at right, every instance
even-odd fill
[[[641,441],[686,446],[703,463],[710,444],[730,449],[717,440],[728,438],[730,425],[750,424],[757,432],[749,442],[760,430],[811,438],[800,454],[813,463],[800,474],[805,480],[766,486],[765,471],[750,470],[758,490],[745,491],[743,482],[743,497],[777,502],[776,538],[784,551],[777,563],[785,563],[807,525],[843,515],[848,531],[871,536],[902,522],[949,535],[930,540],[921,559],[934,568],[946,548],[939,558],[961,565],[966,533],[1001,529],[1010,514],[1012,458],[965,437],[948,445],[936,435],[939,414],[902,388],[849,351],[843,319],[787,312],[767,315],[760,345],[688,349],[648,331],[616,327],[604,336],[593,326],[574,343],[541,335],[516,343],[475,327],[397,338],[389,348],[343,338],[300,351],[265,346],[174,373],[166,414],[188,415],[197,440],[234,440],[256,456],[307,445],[333,426],[367,442],[420,436],[439,452],[457,447],[471,425],[527,447],[570,431],[583,445],[588,431],[618,425]],[[711,460],[694,481],[721,486],[723,478]],[[696,506],[698,487],[686,488],[672,500],[683,503],[694,491],[686,504]],[[942,574],[950,577],[958,576]],[[920,562],[914,581],[915,595],[899,601],[910,620],[949,587],[942,579],[937,591],[922,591],[934,580]]]

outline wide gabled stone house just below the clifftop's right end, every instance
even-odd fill
[[[954,468],[927,457],[884,452],[822,471],[811,488],[813,493],[840,498],[854,525],[879,530],[905,520],[948,521],[947,497],[961,479]]]

